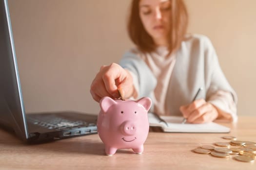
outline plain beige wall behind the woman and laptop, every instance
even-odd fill
[[[27,112],[99,111],[89,89],[101,65],[133,47],[131,0],[9,0]],[[256,0],[185,0],[189,32],[207,35],[238,95],[238,115],[256,116]]]

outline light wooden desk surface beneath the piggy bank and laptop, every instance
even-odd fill
[[[197,154],[200,145],[229,141],[221,136],[256,142],[256,117],[239,117],[230,134],[186,134],[150,132],[144,153],[118,150],[106,156],[98,135],[74,137],[39,145],[22,143],[0,129],[0,170],[256,170],[256,162],[238,162],[233,158],[217,158]]]

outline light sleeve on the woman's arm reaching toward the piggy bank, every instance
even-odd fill
[[[122,68],[131,72],[138,99],[151,97],[157,85],[157,80],[146,63],[137,54],[128,51],[124,54],[119,64]]]

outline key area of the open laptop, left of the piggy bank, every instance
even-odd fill
[[[66,130],[73,128],[96,126],[95,123],[88,123],[82,120],[71,121],[54,115],[43,116],[40,117],[40,119],[29,117],[28,120],[31,121],[33,124],[39,125],[41,127],[55,130]]]

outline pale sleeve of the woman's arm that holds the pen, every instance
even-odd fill
[[[205,74],[208,75],[206,101],[215,105],[219,110],[220,119],[237,121],[236,103],[237,96],[234,89],[228,83],[224,73],[222,72],[217,54],[211,41],[208,38],[204,39],[205,43]]]

